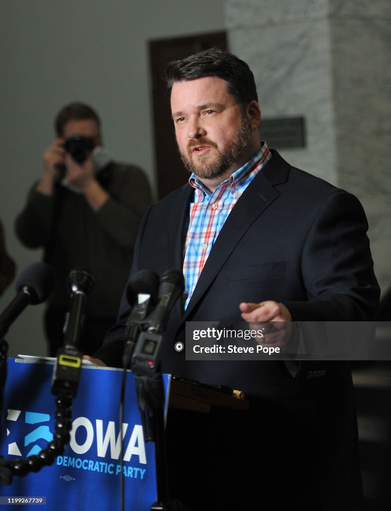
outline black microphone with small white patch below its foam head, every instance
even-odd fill
[[[127,368],[132,358],[138,334],[142,330],[143,320],[149,314],[151,306],[157,302],[159,275],[152,270],[140,270],[133,275],[126,290],[132,311],[129,314],[125,331],[123,366]]]

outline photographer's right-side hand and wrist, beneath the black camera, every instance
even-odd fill
[[[65,154],[65,165],[67,168],[65,177],[68,182],[75,184],[83,191],[92,211],[99,211],[109,199],[109,194],[95,178],[91,156],[89,155],[85,162],[80,165],[69,154]]]

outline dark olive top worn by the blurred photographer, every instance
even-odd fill
[[[67,310],[69,271],[91,272],[95,285],[88,297],[89,317],[113,317],[129,276],[137,229],[151,204],[148,179],[141,169],[110,163],[97,179],[110,195],[94,213],[82,194],[57,183],[53,196],[35,190],[16,219],[16,233],[29,248],[42,247],[45,261],[57,274],[57,285],[48,298],[55,309]]]

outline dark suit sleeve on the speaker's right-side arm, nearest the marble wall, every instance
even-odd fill
[[[373,321],[380,289],[368,221],[358,199],[338,190],[320,208],[302,252],[308,301],[286,301],[296,321]]]

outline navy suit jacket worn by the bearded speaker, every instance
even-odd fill
[[[242,321],[241,301],[284,303],[295,321],[375,319],[380,290],[360,202],[291,167],[276,151],[272,154],[215,240],[186,311],[178,299],[170,314],[163,373],[229,385],[254,396],[291,385],[281,362],[190,362],[184,351],[174,350],[176,341],[185,342],[186,321]],[[150,207],[139,228],[131,275],[142,269],[159,275],[182,271],[192,196],[186,183]],[[130,310],[124,292],[118,322],[95,354],[108,365],[121,366]],[[301,369],[309,370],[305,364]]]

